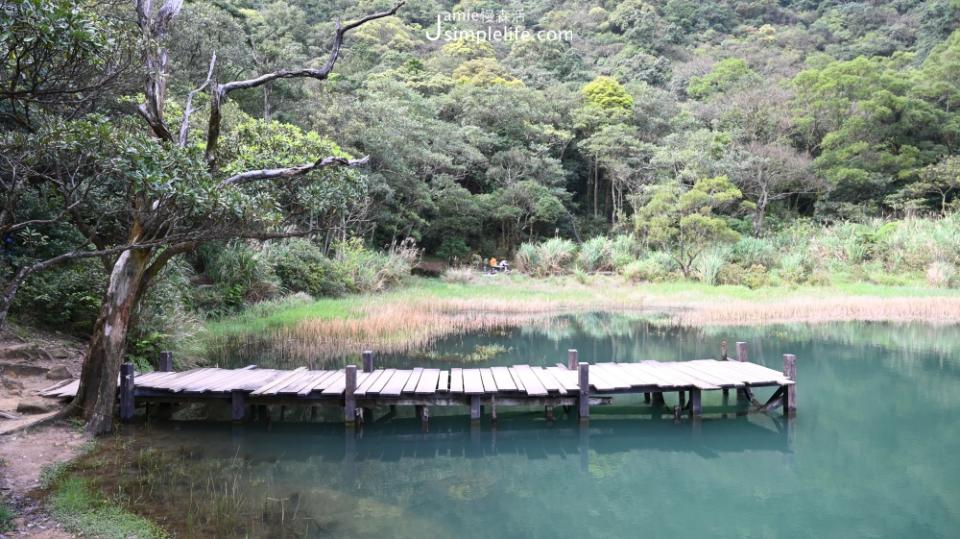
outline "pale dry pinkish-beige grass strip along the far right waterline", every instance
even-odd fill
[[[778,303],[727,301],[697,306],[674,316],[684,326],[759,325],[790,322],[960,322],[960,298],[794,299]]]

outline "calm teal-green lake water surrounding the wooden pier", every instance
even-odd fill
[[[465,410],[437,410],[426,433],[406,410],[356,435],[178,421],[128,428],[91,458],[119,471],[105,489],[180,536],[960,536],[956,327],[680,329],[589,315],[379,363],[554,364],[571,347],[590,362],[693,359],[721,340],[748,341],[751,360],[776,369],[797,355],[795,420],[724,417],[716,392],[700,422],[617,398],[585,429],[542,410],[501,410],[479,429]]]

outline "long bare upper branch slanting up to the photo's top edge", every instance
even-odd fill
[[[207,165],[210,166],[211,169],[216,169],[216,153],[220,140],[220,105],[223,104],[223,101],[227,98],[227,95],[230,92],[234,90],[248,90],[250,88],[256,88],[258,86],[273,82],[277,79],[326,79],[330,72],[333,71],[333,66],[337,63],[337,58],[340,57],[340,47],[343,45],[343,37],[347,32],[370,21],[395,15],[397,10],[400,9],[404,3],[405,2],[399,2],[397,5],[393,6],[393,9],[367,15],[366,17],[357,19],[356,21],[347,23],[345,25],[337,22],[336,33],[333,36],[333,44],[330,46],[330,56],[327,58],[327,62],[323,64],[323,67],[320,69],[281,69],[280,71],[266,73],[252,79],[235,80],[219,85],[214,84],[211,90],[212,95],[210,98],[210,120],[207,124],[207,148],[205,152]]]

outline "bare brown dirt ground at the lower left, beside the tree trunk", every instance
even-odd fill
[[[0,499],[14,509],[15,530],[0,539],[72,537],[45,512],[37,495],[47,466],[75,458],[90,437],[66,422],[23,430],[61,403],[38,393],[80,372],[82,344],[12,328],[0,334]]]

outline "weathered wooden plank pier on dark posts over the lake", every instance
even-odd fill
[[[220,400],[230,403],[231,416],[241,421],[249,409],[265,405],[327,405],[342,408],[348,426],[369,419],[377,407],[414,406],[426,423],[430,407],[464,406],[471,421],[479,421],[484,409],[496,419],[498,406],[543,406],[548,419],[554,407],[576,409],[582,420],[590,416],[592,405],[606,404],[619,394],[643,394],[653,405],[663,405],[664,393],[677,393],[681,413],[699,418],[702,394],[721,391],[726,402],[730,389],[738,400],[747,400],[754,409],[778,408],[787,416],[796,412],[796,358],[783,356],[783,372],[747,361],[746,343],[737,343],[738,358],[726,359],[726,344],[721,359],[693,361],[639,361],[635,363],[586,363],[576,350],[568,352],[567,363],[553,367],[513,365],[487,368],[375,368],[373,354],[362,354],[362,366],[348,365],[339,370],[198,368],[174,372],[172,356],[161,354],[159,370],[146,374],[134,372],[133,365],[122,366],[119,380],[120,418],[130,420],[138,403],[183,403]],[[73,397],[79,381],[66,381],[45,389],[41,394],[53,398]],[[752,389],[775,387],[765,402],[755,400]]]

